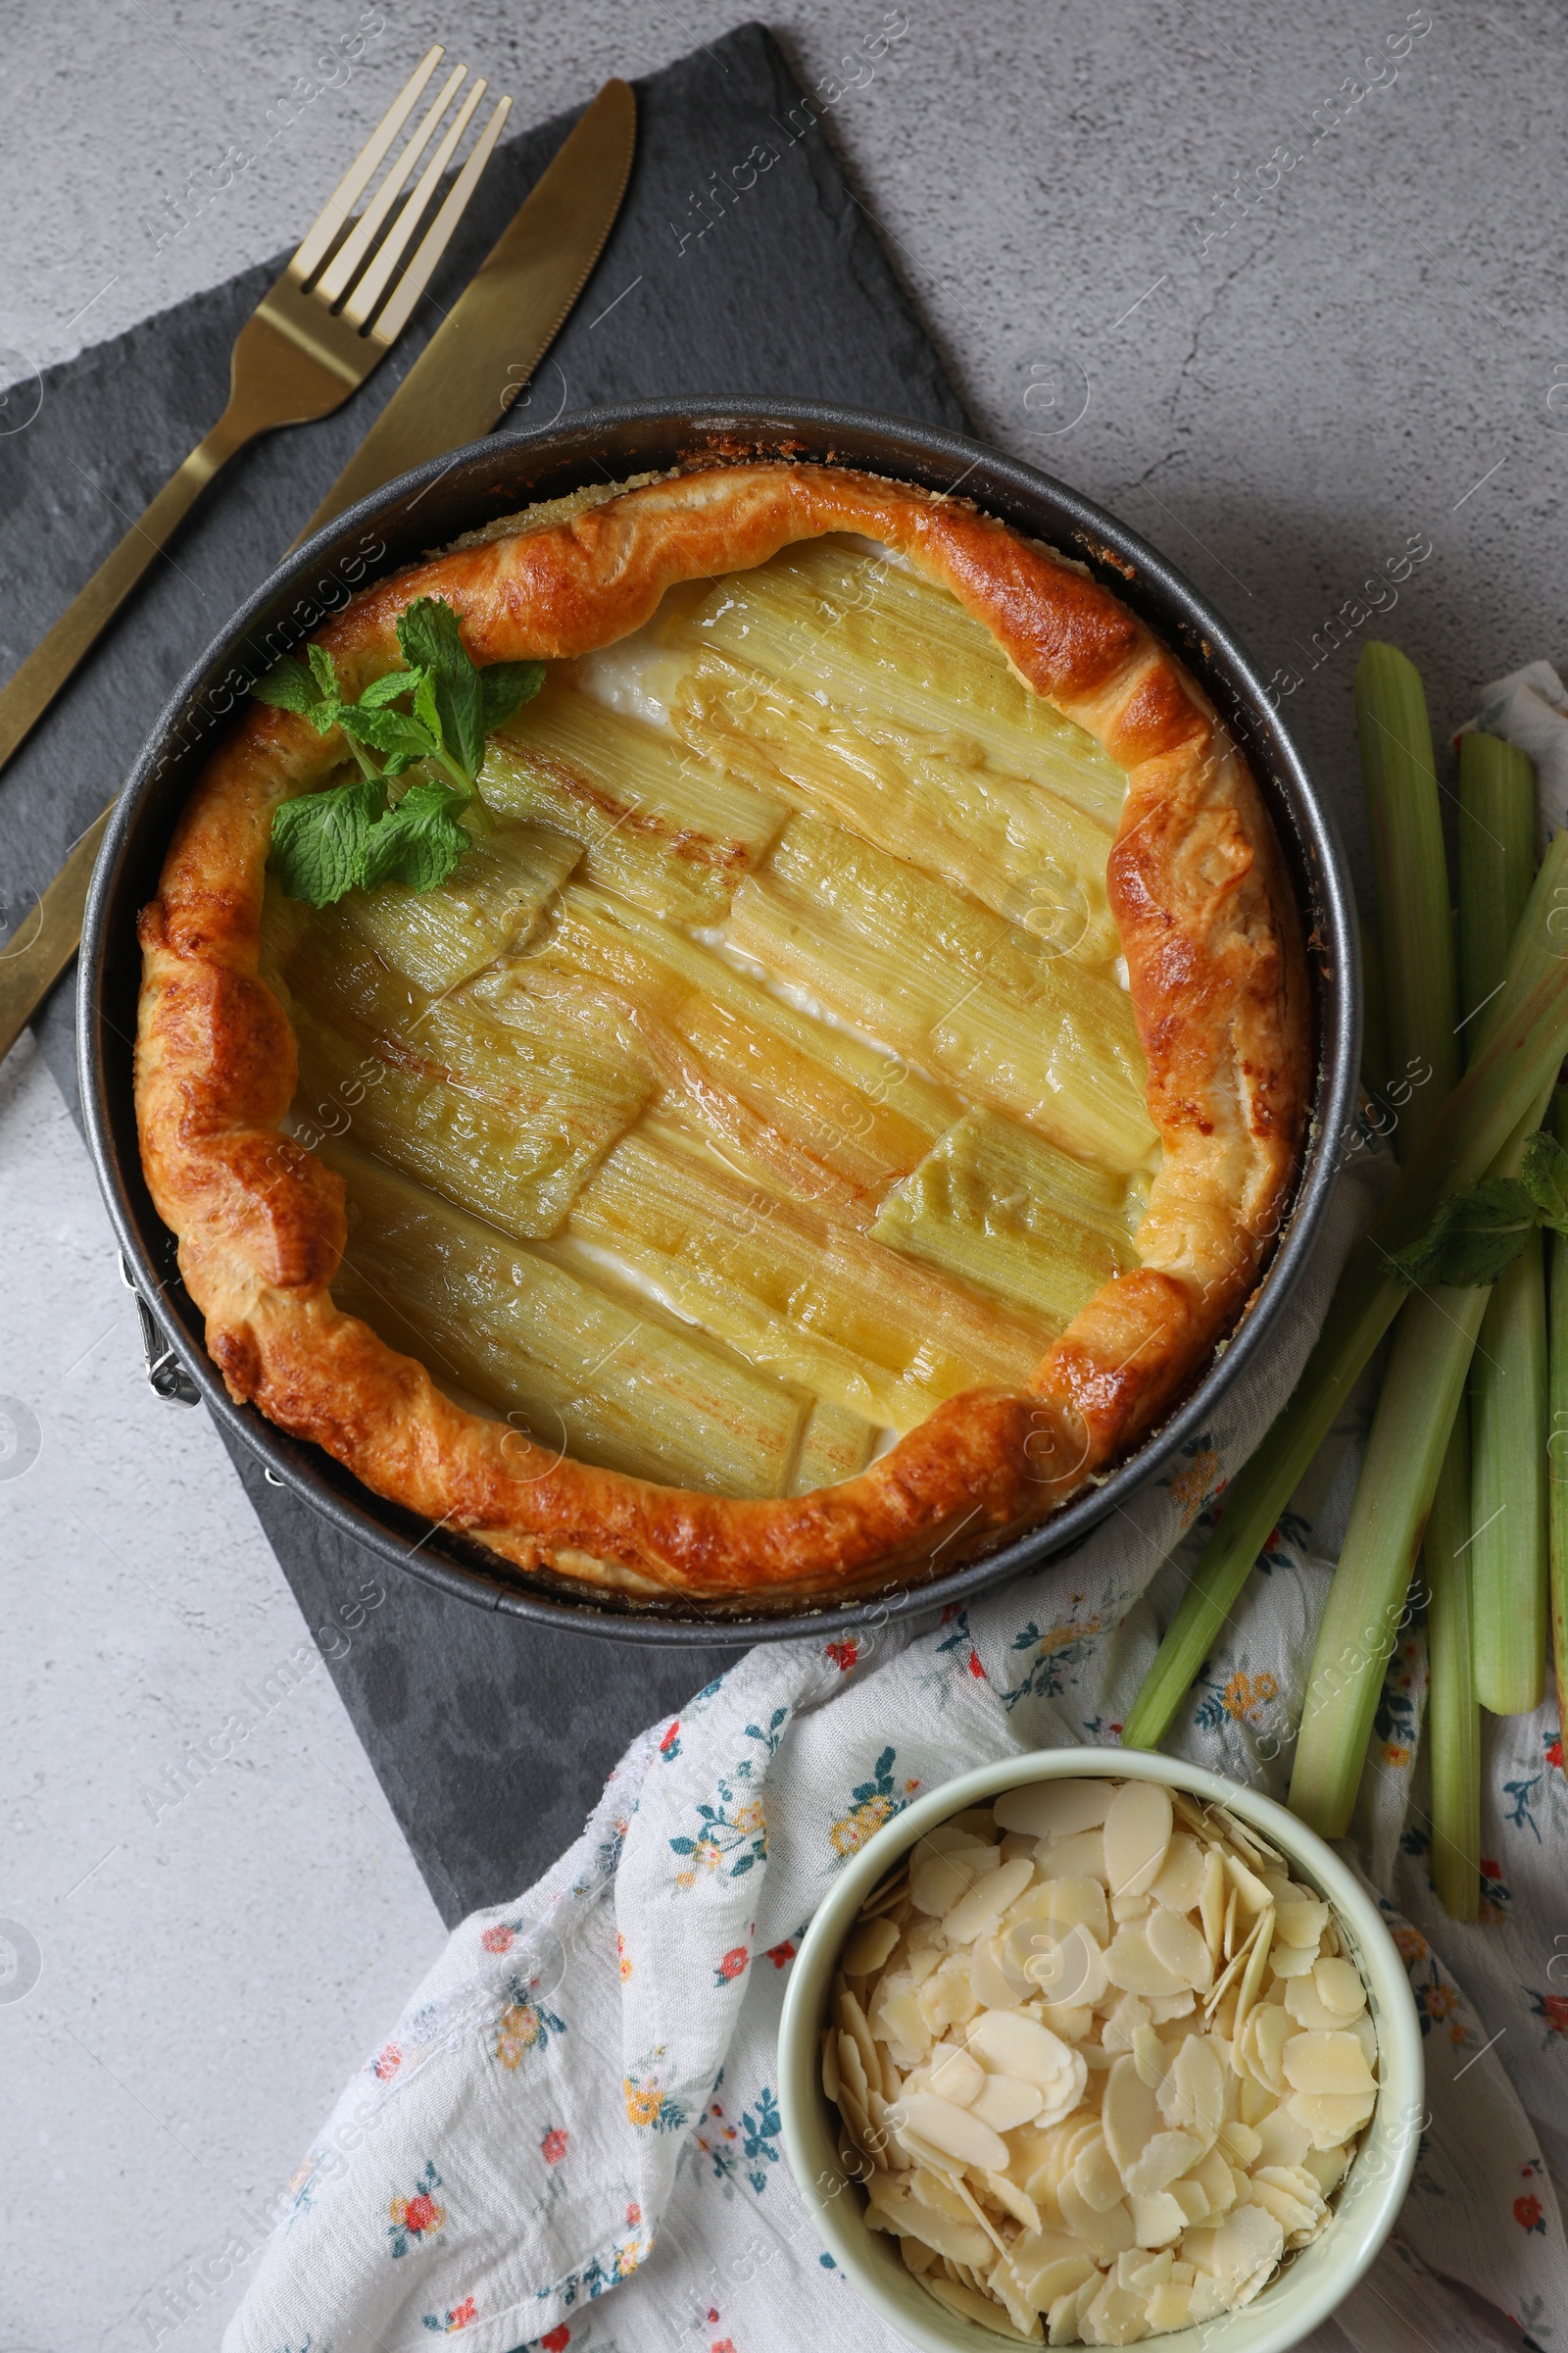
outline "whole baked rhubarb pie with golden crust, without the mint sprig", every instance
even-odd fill
[[[447,880],[287,896],[275,812],[376,762],[252,701],[141,918],[141,1155],[230,1395],[642,1598],[827,1605],[1060,1508],[1300,1160],[1300,922],[1199,687],[1079,565],[835,466],[494,522],[317,675],[390,696],[418,600],[543,664]]]

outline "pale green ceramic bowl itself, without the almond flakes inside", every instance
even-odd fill
[[[1328,2224],[1293,2254],[1251,2304],[1218,2320],[1164,2337],[1143,2339],[1171,2353],[1284,2353],[1300,2344],[1349,2294],[1394,2226],[1410,2186],[1415,2148],[1425,2120],[1425,2071],[1420,2019],[1403,1962],[1382,1915],[1333,1847],[1307,1831],[1272,1798],[1175,1758],[1124,1748],[1048,1748],[1004,1758],[945,1781],[889,1821],[844,1866],[827,1901],[816,1913],[790,1969],[778,2031],[778,2080],[785,2155],[823,2245],[851,2287],[926,2353],[997,2353],[1013,2344],[1006,2334],[950,2313],[914,2280],[898,2242],[865,2224],[860,2191],[846,2177],[837,2146],[837,2118],[823,2092],[820,2031],[849,1929],[872,1887],[926,1831],[985,1805],[1006,1788],[1034,1781],[1112,1777],[1164,1781],[1199,1802],[1227,1807],[1258,1831],[1291,1864],[1291,1875],[1321,1894],[1356,1962],[1378,2033],[1380,2092],[1361,2148],[1335,2191]]]

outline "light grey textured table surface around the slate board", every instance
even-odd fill
[[[369,9],[386,24],[353,75],[296,89],[273,134],[266,108],[360,21],[348,0],[14,12],[0,426],[31,369],[296,240],[428,40],[543,122],[733,14]],[[827,139],[952,384],[985,438],[1124,513],[1300,675],[1288,713],[1361,868],[1363,635],[1418,659],[1439,732],[1568,640],[1559,14],[797,0],[773,24],[806,82],[849,85],[842,59],[889,14],[907,31]],[[45,527],[78,494],[61,482]],[[1396,584],[1410,541],[1432,555]],[[0,2344],[183,2353],[214,2339],[256,2200],[440,1920],[327,1675],[270,1697],[303,1619],[202,1417],[141,1391],[92,1176],[28,1047],[0,1073],[0,1381],[31,1417],[0,1445],[0,1915],[33,1939],[0,1969],[24,2120],[0,2179],[28,2217]],[[181,1788],[188,1744],[226,1720],[249,1729]]]

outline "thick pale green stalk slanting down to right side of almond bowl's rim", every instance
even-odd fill
[[[1349,1831],[1382,1673],[1483,1313],[1483,1289],[1418,1292],[1394,1334],[1291,1772],[1291,1812],[1321,1838]]]

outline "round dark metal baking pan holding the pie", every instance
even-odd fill
[[[1105,581],[1171,645],[1244,746],[1295,882],[1314,1000],[1312,1127],[1302,1174],[1267,1275],[1227,1346],[1175,1412],[1110,1478],[1046,1525],[929,1584],[851,1607],[762,1612],[691,1600],[644,1602],[583,1593],[524,1574],[451,1529],[381,1501],[317,1447],[289,1438],[254,1407],[235,1405],[202,1346],[202,1318],[174,1264],[174,1238],[153,1209],[136,1153],[132,1040],[136,1028],[136,911],[155,894],[174,819],[214,739],[277,654],[317,628],[348,595],[400,565],[536,499],[585,482],[701,456],[837,459],[929,489],[954,492],[1034,539],[1046,539]],[[893,416],[806,402],[637,402],[585,409],[531,433],[498,433],[421,466],[364,499],[289,555],[181,680],[132,769],[103,840],[87,906],[80,974],[80,1068],[87,1136],[132,1275],[165,1325],[207,1407],[261,1454],[275,1480],[303,1494],[346,1537],[484,1609],[574,1626],[630,1642],[766,1640],[837,1633],[957,1602],[1072,1546],[1157,1478],[1182,1442],[1213,1421],[1225,1391],[1246,1381],[1319,1235],[1335,1181],[1338,1136],[1354,1104],[1359,953],[1354,899],[1333,816],[1307,776],[1262,675],[1218,612],[1182,574],[1048,475],[980,442]]]

